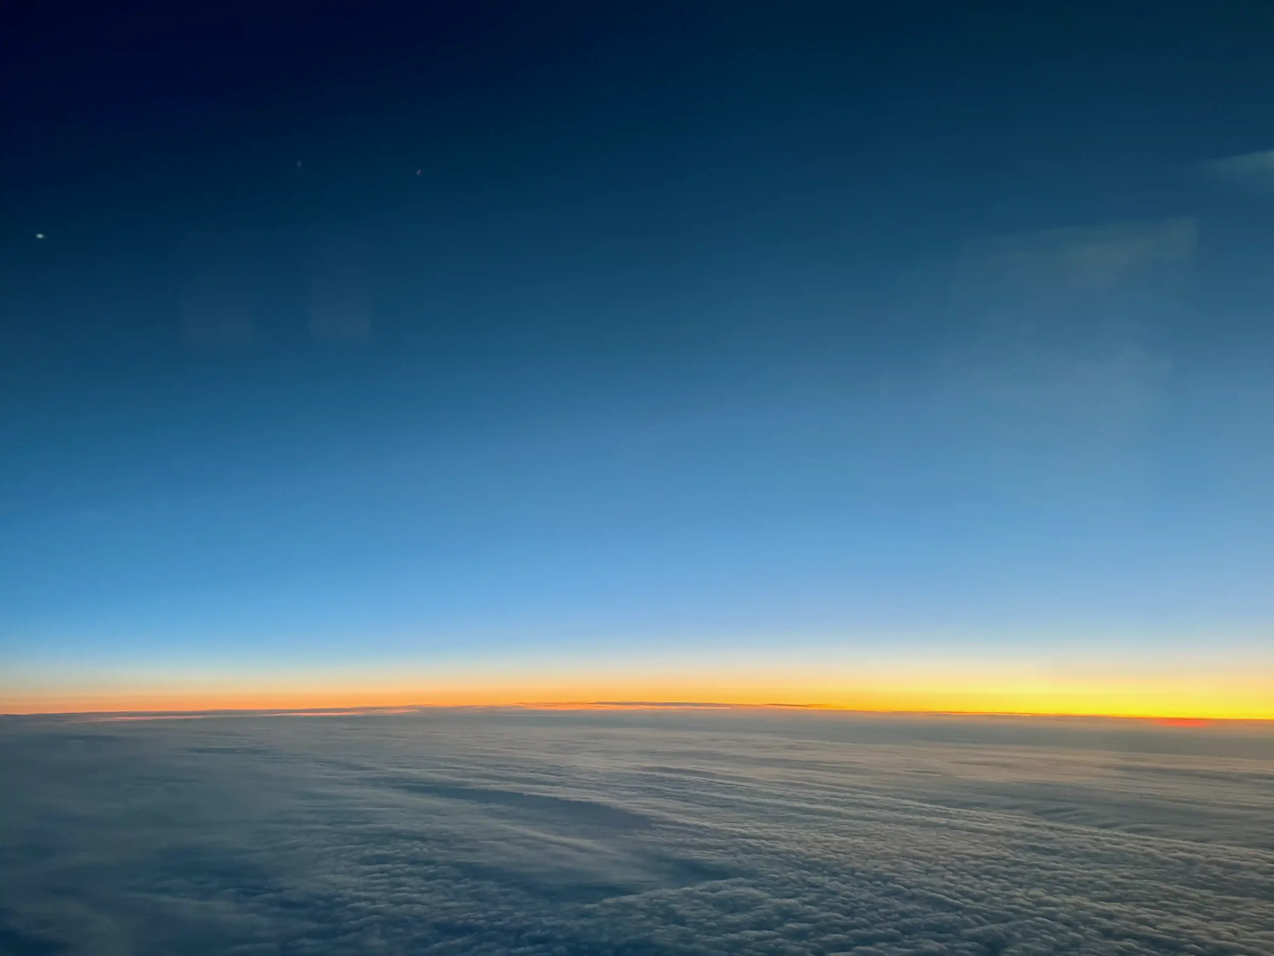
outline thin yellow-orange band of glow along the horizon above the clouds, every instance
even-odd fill
[[[145,713],[206,710],[340,710],[413,706],[603,707],[608,702],[666,706],[798,706],[879,713],[963,713],[1148,718],[1196,721],[1274,720],[1274,679],[1227,676],[1212,679],[1038,678],[999,674],[971,679],[571,679],[307,683],[279,681],[173,682],[167,686],[0,688],[0,714]]]

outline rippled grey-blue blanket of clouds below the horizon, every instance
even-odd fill
[[[1274,952],[1268,730],[0,723],[0,953]]]

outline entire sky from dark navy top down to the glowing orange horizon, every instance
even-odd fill
[[[1274,19],[878,6],[0,6],[0,711],[1274,718]]]

